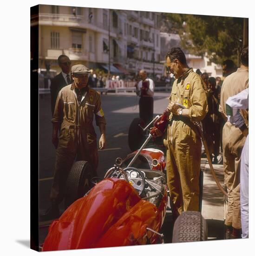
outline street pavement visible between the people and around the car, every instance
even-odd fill
[[[154,115],[162,114],[168,105],[168,92],[156,92],[154,96]],[[131,151],[128,147],[128,129],[131,121],[139,117],[138,97],[135,93],[108,93],[101,95],[102,107],[107,121],[107,148],[99,150],[98,176],[103,178],[117,157],[124,158]],[[97,137],[99,129],[96,127]],[[49,194],[55,162],[55,149],[51,143],[52,124],[50,95],[39,98],[39,211],[49,206]],[[223,185],[223,167],[214,165],[217,176]],[[224,204],[223,195],[217,188],[210,173],[209,165],[202,158],[201,168],[204,173],[202,215],[208,224],[209,239],[223,239]],[[60,210],[64,210],[60,205]],[[167,220],[166,220],[167,222]],[[48,222],[40,222],[39,243],[43,243],[47,234]],[[165,243],[171,242],[172,223],[164,223],[167,231]]]

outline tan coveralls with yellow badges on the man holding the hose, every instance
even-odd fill
[[[189,108],[189,117],[170,115],[164,145],[167,149],[167,184],[174,203],[173,213],[199,210],[201,138],[191,122],[201,121],[208,111],[206,88],[190,68],[174,81],[170,101]]]

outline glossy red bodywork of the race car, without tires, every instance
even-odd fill
[[[120,172],[113,172],[73,202],[52,222],[43,251],[162,242],[158,232],[167,206],[164,154],[154,148],[143,149],[132,167],[125,168],[136,154],[129,154],[120,165],[129,182]],[[137,169],[145,178],[140,195],[135,189],[142,183]]]

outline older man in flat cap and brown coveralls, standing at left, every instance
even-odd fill
[[[75,159],[88,161],[96,176],[98,149],[92,125],[94,115],[101,132],[99,148],[104,149],[106,143],[106,122],[100,94],[87,86],[90,71],[78,64],[72,66],[71,73],[73,82],[59,91],[52,118],[52,143],[56,148],[56,162],[50,196],[52,204],[41,215],[44,220],[59,217],[59,203],[63,200],[65,182]]]

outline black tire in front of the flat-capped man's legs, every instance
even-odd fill
[[[91,179],[94,176],[96,176],[96,174],[89,162],[74,162],[66,180],[65,209],[92,189],[94,184],[91,182]]]

